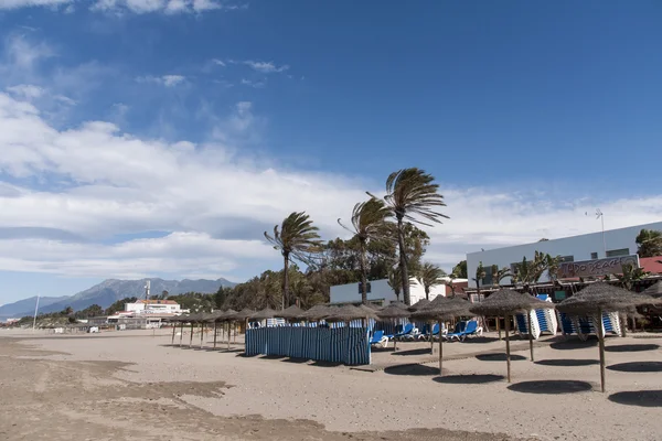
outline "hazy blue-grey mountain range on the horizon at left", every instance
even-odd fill
[[[74,311],[84,310],[93,304],[102,308],[108,308],[118,300],[129,297],[145,298],[145,287],[150,281],[150,292],[152,295],[168,291],[169,294],[182,294],[184,292],[204,292],[214,293],[220,287],[234,287],[236,283],[226,279],[218,280],[163,280],[163,279],[141,279],[141,280],[118,280],[108,279],[99,284],[81,291],[74,295],[65,297],[42,297],[39,299],[39,312],[49,313],[62,311],[71,306]],[[19,300],[14,303],[8,303],[0,306],[0,319],[21,318],[34,314],[36,297]]]

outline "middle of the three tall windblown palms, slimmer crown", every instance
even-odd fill
[[[338,223],[341,227],[354,234],[359,240],[359,268],[361,271],[361,302],[367,303],[367,243],[380,239],[386,235],[386,220],[392,216],[391,209],[383,201],[371,197],[365,202],[354,205],[352,211],[352,227],[349,228]]]

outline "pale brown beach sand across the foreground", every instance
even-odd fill
[[[493,336],[445,345],[439,377],[407,365],[433,359],[425,343],[376,353],[365,372],[170,347],[168,330],[0,331],[0,439],[660,439],[662,338],[609,338],[607,394],[595,344],[559,341],[536,345],[540,364],[515,342],[509,386]]]

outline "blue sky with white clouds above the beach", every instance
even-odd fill
[[[662,219],[662,3],[0,0],[0,303],[244,281],[431,173],[426,259]],[[587,215],[588,213],[588,215]]]

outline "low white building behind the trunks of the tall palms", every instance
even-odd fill
[[[453,283],[457,283],[460,287],[467,286],[467,279],[456,279]],[[462,284],[463,283],[463,284]],[[459,289],[458,289],[459,290]],[[433,287],[430,289],[430,300],[436,298],[437,295],[446,295],[447,292],[450,292],[450,288],[445,284],[439,284]],[[409,286],[409,297],[412,304],[416,303],[420,299],[425,299],[425,289],[423,286],[416,280],[412,279],[412,284]],[[384,305],[389,304],[391,302],[395,302],[398,299],[395,297],[395,292],[388,284],[387,279],[380,280],[371,280],[369,282],[367,289],[367,300],[381,303]],[[403,294],[399,295],[399,301],[403,301]],[[331,287],[331,303],[359,303],[361,302],[361,289],[360,283],[348,283],[348,284],[337,284]]]

